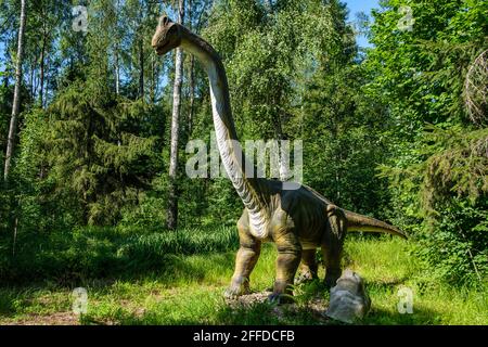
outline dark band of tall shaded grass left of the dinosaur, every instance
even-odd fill
[[[81,228],[23,235],[15,255],[9,247],[0,249],[0,283],[50,280],[72,284],[88,278],[141,274],[164,270],[170,256],[218,253],[237,246],[237,233],[232,228],[162,232]]]

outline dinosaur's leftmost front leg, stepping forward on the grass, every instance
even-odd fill
[[[249,277],[259,258],[261,242],[256,240],[247,229],[239,229],[241,247],[235,257],[235,270],[231,284],[227,288],[224,296],[233,298],[249,293]]]

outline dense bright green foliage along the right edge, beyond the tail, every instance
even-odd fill
[[[486,49],[486,1],[410,1],[415,23],[399,30],[403,2],[374,12],[364,90],[388,107],[391,156],[381,167],[398,224],[416,233],[419,252],[452,283],[486,273],[486,128],[470,124],[462,89],[470,64]],[[483,234],[483,233],[481,233]]]

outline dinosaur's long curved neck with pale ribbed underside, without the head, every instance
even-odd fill
[[[265,237],[268,221],[269,196],[264,193],[264,181],[256,178],[254,165],[248,163],[237,141],[232,118],[229,86],[222,61],[214,48],[184,27],[181,48],[201,61],[210,81],[211,112],[217,145],[227,175],[249,213],[252,232]],[[253,172],[246,176],[247,172]]]

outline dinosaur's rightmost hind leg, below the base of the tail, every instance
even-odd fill
[[[344,211],[333,205],[328,207],[328,223],[322,243],[325,262],[325,286],[332,287],[341,277],[341,260],[344,239],[347,233],[347,219]]]

